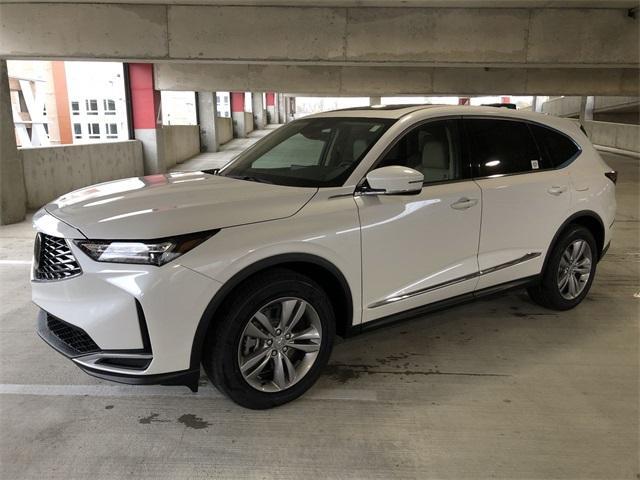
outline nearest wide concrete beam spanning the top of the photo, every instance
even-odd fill
[[[519,68],[640,63],[639,22],[625,9],[2,3],[0,18],[0,56],[7,58]]]

